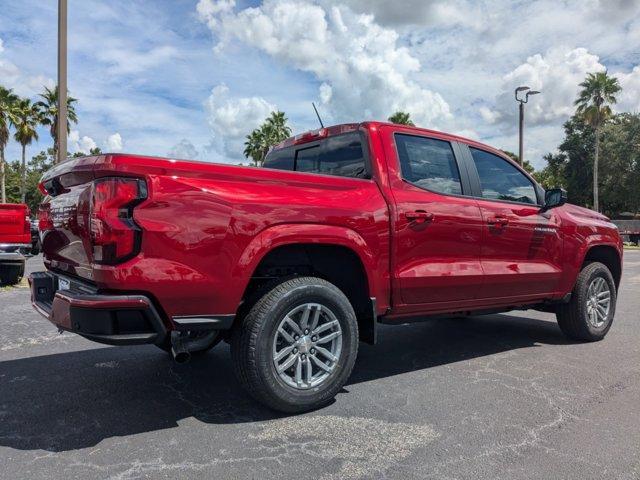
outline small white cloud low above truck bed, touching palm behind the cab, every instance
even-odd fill
[[[277,110],[261,97],[233,98],[226,85],[215,87],[205,106],[214,136],[214,149],[231,160],[243,158],[244,137]]]

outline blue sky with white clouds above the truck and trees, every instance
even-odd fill
[[[37,100],[56,78],[57,1],[0,0],[0,84]],[[68,0],[71,152],[242,162],[275,109],[294,133],[385,120],[517,151],[562,141],[588,72],[608,70],[617,111],[640,111],[640,0]],[[52,144],[48,130],[29,156]],[[10,142],[7,159],[18,159]],[[246,161],[246,160],[245,160]]]

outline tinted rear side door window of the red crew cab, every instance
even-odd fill
[[[435,192],[462,194],[460,172],[449,142],[397,134],[396,145],[402,178]]]

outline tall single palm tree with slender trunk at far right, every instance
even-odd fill
[[[580,84],[575,105],[577,114],[593,127],[596,135],[596,148],[593,159],[593,209],[600,211],[598,203],[598,157],[600,156],[600,129],[611,117],[611,105],[616,103],[616,93],[621,89],[618,79],[610,77],[606,71],[589,73]]]

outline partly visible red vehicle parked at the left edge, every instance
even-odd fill
[[[22,249],[31,246],[29,207],[0,203],[0,284],[14,285],[24,275]]]

